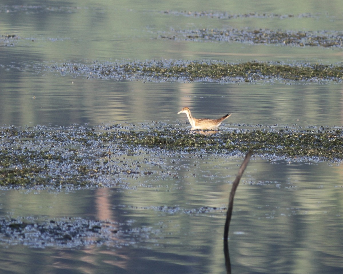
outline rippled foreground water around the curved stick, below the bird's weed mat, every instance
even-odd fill
[[[89,246],[78,251],[42,251],[8,246],[0,251],[1,258],[8,258],[3,259],[4,273],[8,260],[16,261],[10,259],[14,254],[22,258],[16,273],[24,273],[33,257],[45,265],[35,273],[55,268],[64,273],[74,273],[75,269],[109,273],[111,267],[117,273],[151,273],[147,267],[151,264],[156,273],[159,267],[164,269],[163,265],[180,273],[189,273],[189,269],[224,273],[225,207],[229,182],[235,178],[241,159],[176,155],[165,161],[177,161],[176,179],[162,179],[159,175],[156,180],[150,176],[145,180],[127,178],[128,189],[55,194],[2,191],[4,216],[80,216],[127,223],[131,229],[152,232],[146,238],[124,235],[126,244],[119,249]],[[337,258],[342,257],[343,244],[341,170],[340,166],[327,163],[250,161],[236,192],[230,224],[233,273],[297,273],[309,267],[310,258],[317,258],[306,268],[312,273],[325,271],[328,265],[333,273],[340,273],[343,265]]]

